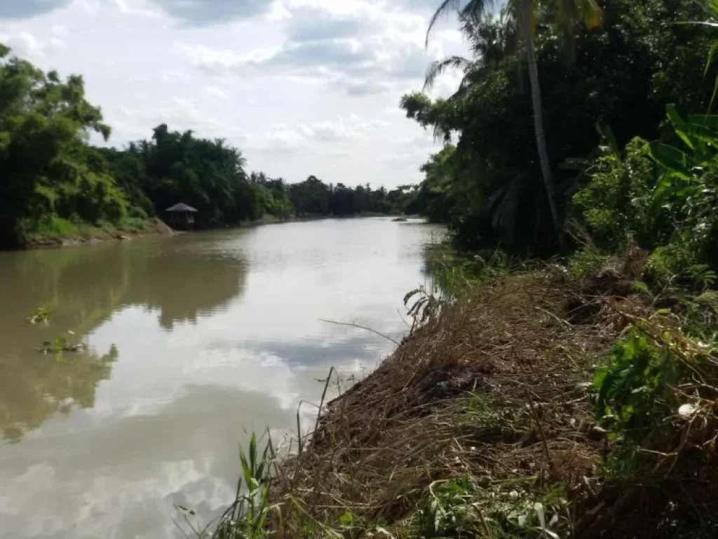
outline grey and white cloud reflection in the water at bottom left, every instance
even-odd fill
[[[60,538],[76,524],[73,538],[156,538],[170,535],[175,503],[209,518],[233,497],[237,444],[246,444],[246,420],[260,410],[276,428],[292,428],[291,415],[265,395],[195,386],[157,415],[58,429],[52,443],[11,447],[0,469],[6,529]]]

